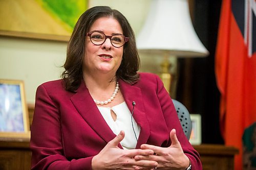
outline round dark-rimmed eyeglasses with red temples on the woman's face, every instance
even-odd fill
[[[125,37],[122,34],[113,34],[112,36],[108,36],[99,31],[93,31],[91,33],[87,33],[86,36],[90,37],[91,42],[94,45],[101,45],[106,41],[107,38],[109,38],[111,44],[117,48],[123,46],[125,42],[129,41],[129,38]]]

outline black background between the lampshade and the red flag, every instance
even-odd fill
[[[220,93],[215,79],[215,49],[221,0],[193,0],[191,17],[194,28],[209,56],[178,59],[177,100],[190,113],[202,116],[202,143],[223,143],[219,128]]]

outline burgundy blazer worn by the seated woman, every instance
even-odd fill
[[[37,88],[30,141],[32,169],[91,169],[93,156],[116,135],[101,116],[86,84],[69,92],[61,82],[51,81]],[[202,169],[199,154],[184,135],[158,76],[141,73],[137,83],[119,80],[119,87],[130,111],[132,102],[136,102],[133,116],[141,127],[137,149],[143,143],[169,147],[169,132],[175,128],[193,169]]]

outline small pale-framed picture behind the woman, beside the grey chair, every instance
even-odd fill
[[[201,144],[201,115],[200,114],[190,114],[190,119],[192,122],[192,130],[189,138],[191,144]]]

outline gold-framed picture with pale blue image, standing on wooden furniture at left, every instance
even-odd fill
[[[0,80],[0,137],[30,137],[23,81]]]

